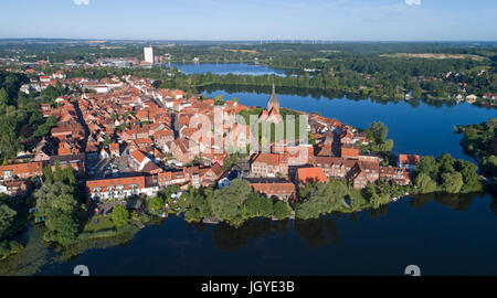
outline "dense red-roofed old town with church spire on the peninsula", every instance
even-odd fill
[[[145,64],[154,63],[151,51],[145,47]],[[399,155],[396,167],[383,164],[380,156],[361,151],[370,140],[358,129],[298,111],[307,120],[307,131],[299,139],[272,140],[268,150],[252,146],[243,158],[225,164],[233,145],[244,149],[254,139],[254,129],[234,118],[255,107],[187,96],[181,89],[157,88],[152,79],[131,75],[67,78],[66,71],[38,72],[22,86],[25,93],[33,92],[32,86],[42,91],[56,85],[83,92],[40,104],[43,116],[55,118],[56,125],[33,152],[22,152],[0,167],[1,192],[28,192],[29,179],[42,183],[43,168],[71,167],[94,201],[151,198],[168,185],[222,189],[233,179],[244,179],[252,190],[290,202],[298,201],[298,190],[306,183],[329,179],[346,179],[353,189],[377,180],[406,185],[420,161],[416,155]],[[273,124],[283,119],[274,85],[258,119]],[[303,140],[307,134],[314,145]]]

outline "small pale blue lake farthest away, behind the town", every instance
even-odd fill
[[[284,70],[244,63],[171,63],[170,66],[176,66],[179,71],[186,74],[204,74],[207,72],[211,72],[212,74],[218,75],[285,75]]]

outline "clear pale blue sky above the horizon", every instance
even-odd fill
[[[0,38],[497,41],[497,0],[15,0]]]

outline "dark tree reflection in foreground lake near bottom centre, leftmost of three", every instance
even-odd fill
[[[212,236],[218,248],[232,251],[245,246],[252,238],[257,238],[272,232],[282,233],[286,230],[286,221],[273,222],[269,219],[252,219],[240,227],[220,223],[212,231]]]

